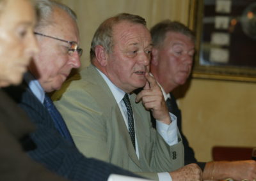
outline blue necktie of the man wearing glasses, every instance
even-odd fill
[[[44,106],[45,106],[45,108],[47,108],[48,112],[50,113],[52,120],[54,122],[54,126],[56,127],[56,129],[58,129],[61,136],[63,136],[63,138],[65,138],[66,140],[68,140],[74,144],[72,136],[70,135],[68,128],[67,128],[60,112],[57,110],[57,108],[52,103],[51,98],[49,98],[49,96],[47,96],[46,94],[45,94],[45,98],[44,98]]]

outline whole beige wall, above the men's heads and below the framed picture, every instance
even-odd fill
[[[102,20],[120,12],[145,17],[148,27],[170,18],[188,25],[189,0],[59,0],[79,19],[83,66],[90,41]],[[192,1],[192,0],[191,0]],[[193,79],[180,99],[183,130],[200,161],[211,160],[214,145],[256,147],[256,84]]]

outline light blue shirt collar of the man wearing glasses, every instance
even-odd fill
[[[28,83],[29,89],[31,90],[31,92],[33,92],[36,98],[41,103],[44,103],[45,92],[38,80],[36,80],[36,78],[29,72],[25,73],[24,80],[26,83]]]

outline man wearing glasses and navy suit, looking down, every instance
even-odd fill
[[[135,176],[84,157],[72,142],[60,113],[45,92],[60,89],[70,70],[80,66],[82,50],[78,47],[76,15],[67,6],[49,0],[36,1],[36,8],[40,15],[35,27],[40,53],[33,56],[23,85],[6,89],[37,127],[30,134],[36,148],[29,150],[29,156],[68,180],[107,180],[111,173]]]

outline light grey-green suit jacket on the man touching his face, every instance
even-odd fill
[[[102,76],[92,65],[83,69],[80,75],[66,83],[65,92],[55,105],[63,115],[77,148],[85,156],[108,161],[155,180],[158,179],[156,172],[173,171],[184,166],[180,136],[177,145],[167,145],[152,128],[150,113],[141,103],[135,103],[132,94],[140,152],[138,159],[122,113]]]

